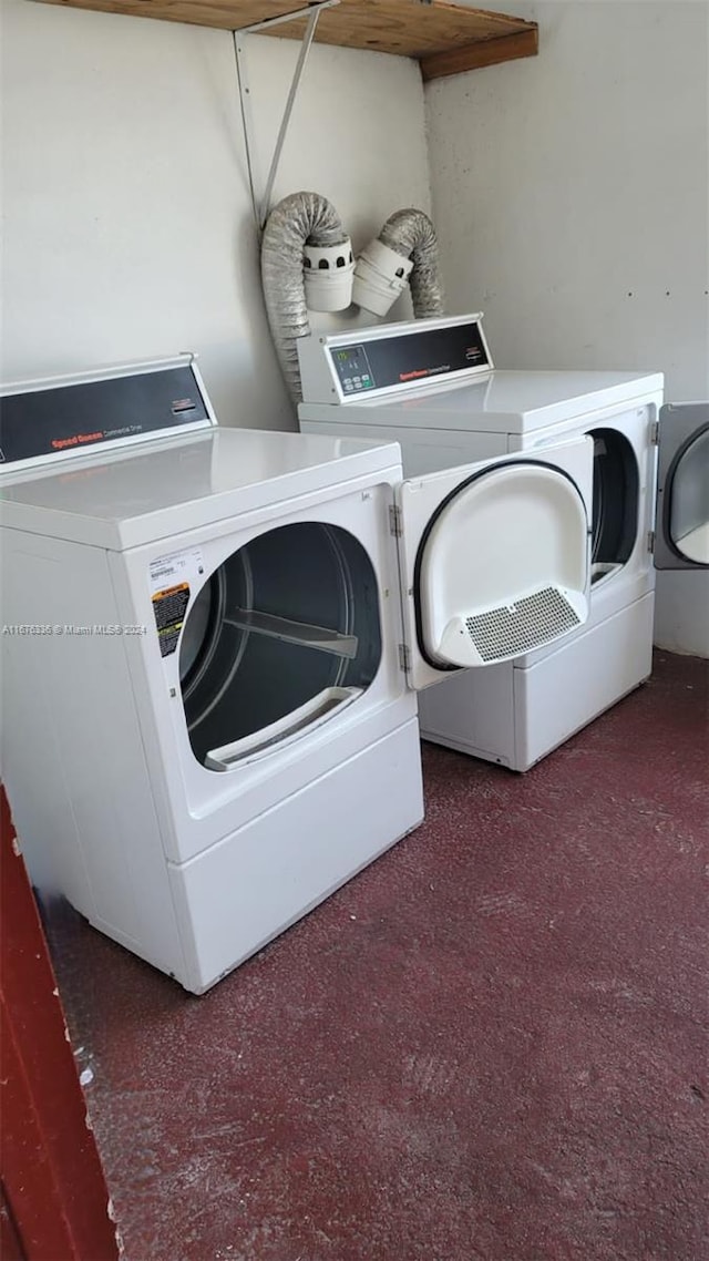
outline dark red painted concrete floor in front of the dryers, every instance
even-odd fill
[[[426,747],[425,825],[202,999],[54,921],[129,1261],[709,1258],[708,665],[525,777]]]

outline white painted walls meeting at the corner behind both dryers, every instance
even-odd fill
[[[197,349],[222,424],[293,427],[231,37],[0,5],[3,380]],[[500,366],[660,367],[708,397],[706,4],[486,6],[536,18],[541,54],[426,88],[449,309],[484,309]],[[261,183],[295,57],[250,39]],[[299,188],[356,247],[430,208],[415,63],[313,48],[274,198]],[[709,654],[709,576],[661,576],[657,639]]]

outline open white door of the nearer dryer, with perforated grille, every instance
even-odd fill
[[[397,491],[413,687],[532,652],[588,618],[593,441],[410,478]]]

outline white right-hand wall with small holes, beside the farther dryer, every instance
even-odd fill
[[[498,367],[655,368],[669,401],[709,398],[709,6],[510,11],[537,58],[426,88],[450,310],[486,313]],[[659,576],[656,641],[709,656],[709,575]]]

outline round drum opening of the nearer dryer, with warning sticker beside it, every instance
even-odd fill
[[[179,673],[192,750],[231,770],[334,718],[381,658],[362,545],[320,522],[269,530],[211,575],[188,610]]]

